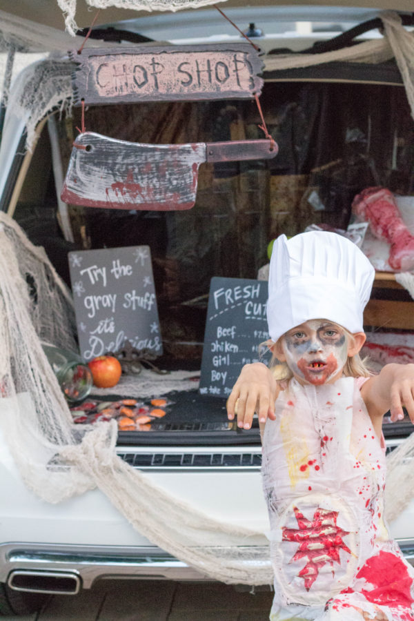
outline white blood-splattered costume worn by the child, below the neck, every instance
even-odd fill
[[[384,523],[384,438],[365,378],[290,380],[263,436],[275,598],[270,620],[414,620],[414,569]]]

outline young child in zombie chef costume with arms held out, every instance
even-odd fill
[[[279,237],[267,313],[283,379],[246,365],[228,399],[240,427],[259,416],[272,621],[414,620],[414,569],[384,523],[382,435],[389,409],[400,420],[404,404],[414,421],[414,365],[370,375],[359,358],[373,278],[345,237]]]

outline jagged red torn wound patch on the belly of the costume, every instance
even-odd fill
[[[333,561],[341,563],[339,550],[351,554],[351,550],[344,543],[344,536],[349,535],[337,526],[338,511],[328,511],[318,507],[313,514],[313,519],[308,520],[303,513],[293,507],[297,520],[298,529],[288,529],[286,526],[282,532],[282,541],[297,542],[299,547],[292,561],[306,558],[308,562],[301,571],[299,577],[304,578],[305,589],[309,591],[319,575],[325,563]]]

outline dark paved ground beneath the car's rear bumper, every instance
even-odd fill
[[[242,589],[242,590],[241,590]],[[2,621],[268,621],[273,593],[218,582],[101,580]]]

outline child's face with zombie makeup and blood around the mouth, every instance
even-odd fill
[[[349,340],[346,331],[336,324],[311,319],[281,337],[278,357],[286,360],[300,384],[331,384],[342,375]]]

